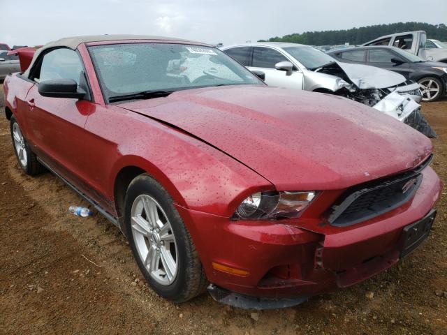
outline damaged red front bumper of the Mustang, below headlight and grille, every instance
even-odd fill
[[[279,308],[359,283],[395,265],[404,228],[430,213],[441,188],[437,174],[425,168],[412,200],[349,227],[301,220],[231,221],[176,208],[193,237],[215,299],[242,308]],[[244,271],[221,271],[213,263]]]

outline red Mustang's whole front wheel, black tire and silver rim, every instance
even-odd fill
[[[205,290],[207,280],[191,236],[168,192],[147,174],[129,185],[125,222],[133,256],[158,295],[182,302]]]

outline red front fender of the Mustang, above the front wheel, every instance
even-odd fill
[[[110,198],[119,171],[127,166],[152,175],[179,206],[219,216],[232,216],[251,193],[274,189],[261,175],[198,138],[137,113],[125,114],[119,133],[103,134],[116,136],[108,142],[117,145],[112,146],[117,156],[108,173]],[[89,117],[87,124],[91,121]]]

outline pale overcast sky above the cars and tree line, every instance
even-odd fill
[[[241,43],[394,22],[447,23],[447,0],[0,0],[0,43],[149,34]]]

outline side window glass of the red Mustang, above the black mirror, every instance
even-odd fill
[[[79,84],[82,70],[81,60],[75,51],[56,49],[43,56],[41,70],[34,80],[42,82],[51,79],[73,79]]]

